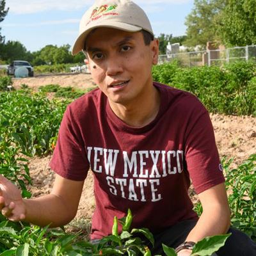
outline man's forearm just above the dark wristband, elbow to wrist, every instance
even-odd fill
[[[229,209],[220,206],[212,207],[211,211],[204,211],[195,227],[189,233],[186,241],[198,242],[204,237],[227,233],[230,227]]]

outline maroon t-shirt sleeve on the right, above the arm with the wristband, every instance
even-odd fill
[[[196,193],[225,182],[211,118],[202,104],[191,115],[186,134],[186,163]]]

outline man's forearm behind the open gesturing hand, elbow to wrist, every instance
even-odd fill
[[[68,205],[54,194],[40,196],[33,199],[24,199],[26,218],[24,221],[44,227],[60,227],[70,222],[76,212],[70,212]]]

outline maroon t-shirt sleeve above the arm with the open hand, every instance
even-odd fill
[[[61,177],[77,181],[84,180],[90,168],[81,126],[74,120],[69,107],[63,115],[49,166]]]

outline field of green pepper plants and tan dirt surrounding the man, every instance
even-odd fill
[[[245,71],[240,67],[244,67]],[[175,69],[175,72],[172,71],[172,68]],[[182,88],[185,87],[185,90],[186,88],[188,90],[191,89],[191,92],[198,94],[202,102],[206,103],[207,107],[211,109],[210,116],[216,136],[216,144],[227,178],[226,185],[232,209],[232,223],[235,227],[241,228],[255,239],[256,105],[255,100],[252,99],[255,99],[253,96],[255,90],[253,88],[256,86],[256,73],[250,73],[251,66],[244,65],[244,63],[228,68],[232,72],[230,70],[228,72],[225,70],[224,72],[218,71],[216,68],[183,70],[174,63],[170,64],[170,66],[163,65],[162,69],[157,67],[153,75],[158,81],[164,80],[162,82],[166,84],[174,82],[178,84],[177,81],[182,81],[182,83],[178,84],[178,88],[183,86]],[[241,74],[241,70],[243,74]],[[216,75],[217,72],[219,72],[218,76]],[[249,73],[250,75],[248,75]],[[239,80],[237,80],[237,74],[241,74]],[[214,76],[214,79],[211,76]],[[244,77],[246,77],[246,80]],[[192,80],[194,82],[191,82]],[[236,84],[236,81],[239,81],[240,85]],[[12,81],[10,81],[10,77],[3,77],[3,79],[0,79],[0,90],[1,88],[2,90],[9,90],[8,83],[12,83],[15,92],[0,94],[0,104],[2,104],[0,109],[0,150],[2,150],[0,154],[0,173],[4,173],[13,182],[19,183],[22,188],[22,196],[31,195],[35,197],[50,193],[52,182],[54,181],[54,173],[48,164],[51,160],[52,150],[55,147],[56,132],[58,131],[63,111],[68,102],[83,93],[89,92],[96,86],[88,74],[58,74],[56,76],[36,76],[23,79],[12,78]],[[216,88],[216,84],[219,87],[217,86]],[[227,93],[230,93],[230,95]],[[228,106],[226,106],[227,104]],[[228,115],[228,113],[235,113],[236,115]],[[252,113],[252,115],[241,115],[241,113]],[[28,160],[24,159],[24,157]],[[250,160],[246,161],[248,157],[250,157]],[[229,159],[232,159],[232,161]],[[30,174],[31,182],[28,173]],[[20,179],[22,176],[23,179]],[[193,191],[193,187],[190,189],[190,194],[196,205],[195,210],[200,214],[202,209],[198,204],[198,198]],[[79,248],[76,247],[77,244],[71,247],[71,243],[76,239],[76,236],[82,236],[83,239],[88,238],[94,208],[93,179],[92,173],[89,172],[76,218],[65,227],[68,232],[67,235],[59,234],[58,238],[54,231],[51,233],[51,231],[48,232],[46,229],[38,229],[37,227],[22,227],[22,223],[20,224],[21,226],[18,225],[18,227],[15,226],[15,229],[12,229],[12,223],[3,221],[4,219],[1,218],[0,214],[0,256],[81,255],[73,251],[70,254],[66,254],[66,250],[69,252],[70,248],[71,250],[77,248],[79,252],[83,251],[79,246]],[[20,228],[23,229],[20,230]],[[135,230],[134,232],[137,231]],[[47,236],[45,232],[47,232]],[[79,232],[79,235],[76,235],[77,232]],[[139,232],[144,233],[145,230],[140,230]],[[3,236],[2,239],[1,236]],[[8,236],[13,238],[11,242],[8,241]],[[102,240],[100,246],[104,248],[108,239],[110,239],[112,245],[120,244],[120,239],[122,243],[133,243],[132,241],[136,240],[127,240],[132,236],[131,230],[131,234],[124,233],[121,236],[106,237],[105,240]],[[41,242],[40,239],[42,237],[44,239]],[[56,237],[57,241],[52,240],[52,237]],[[30,244],[26,242],[28,238],[30,239]],[[150,235],[147,234],[147,238],[151,239]],[[218,239],[218,237],[215,239]],[[219,245],[224,243],[224,238],[221,237],[220,239],[222,239],[222,242],[219,241]],[[4,244],[4,248],[1,248],[1,244]],[[15,249],[12,248],[14,244]],[[85,255],[102,254],[101,249],[99,251],[99,248],[92,249],[90,246],[88,250],[95,250],[96,254]],[[115,246],[113,246],[114,249],[116,248]],[[137,245],[132,246],[136,247]],[[41,252],[42,248],[47,254]],[[4,252],[7,249],[10,250]],[[118,253],[113,253],[111,248],[104,248],[104,250],[110,250],[108,253],[106,252],[106,255]],[[129,249],[124,248],[124,250],[128,252]],[[169,249],[166,248],[166,250],[168,251]],[[147,252],[147,248],[145,246],[141,247],[140,252]],[[103,253],[103,255],[105,254]],[[170,254],[166,253],[166,255],[175,254],[171,252]]]

